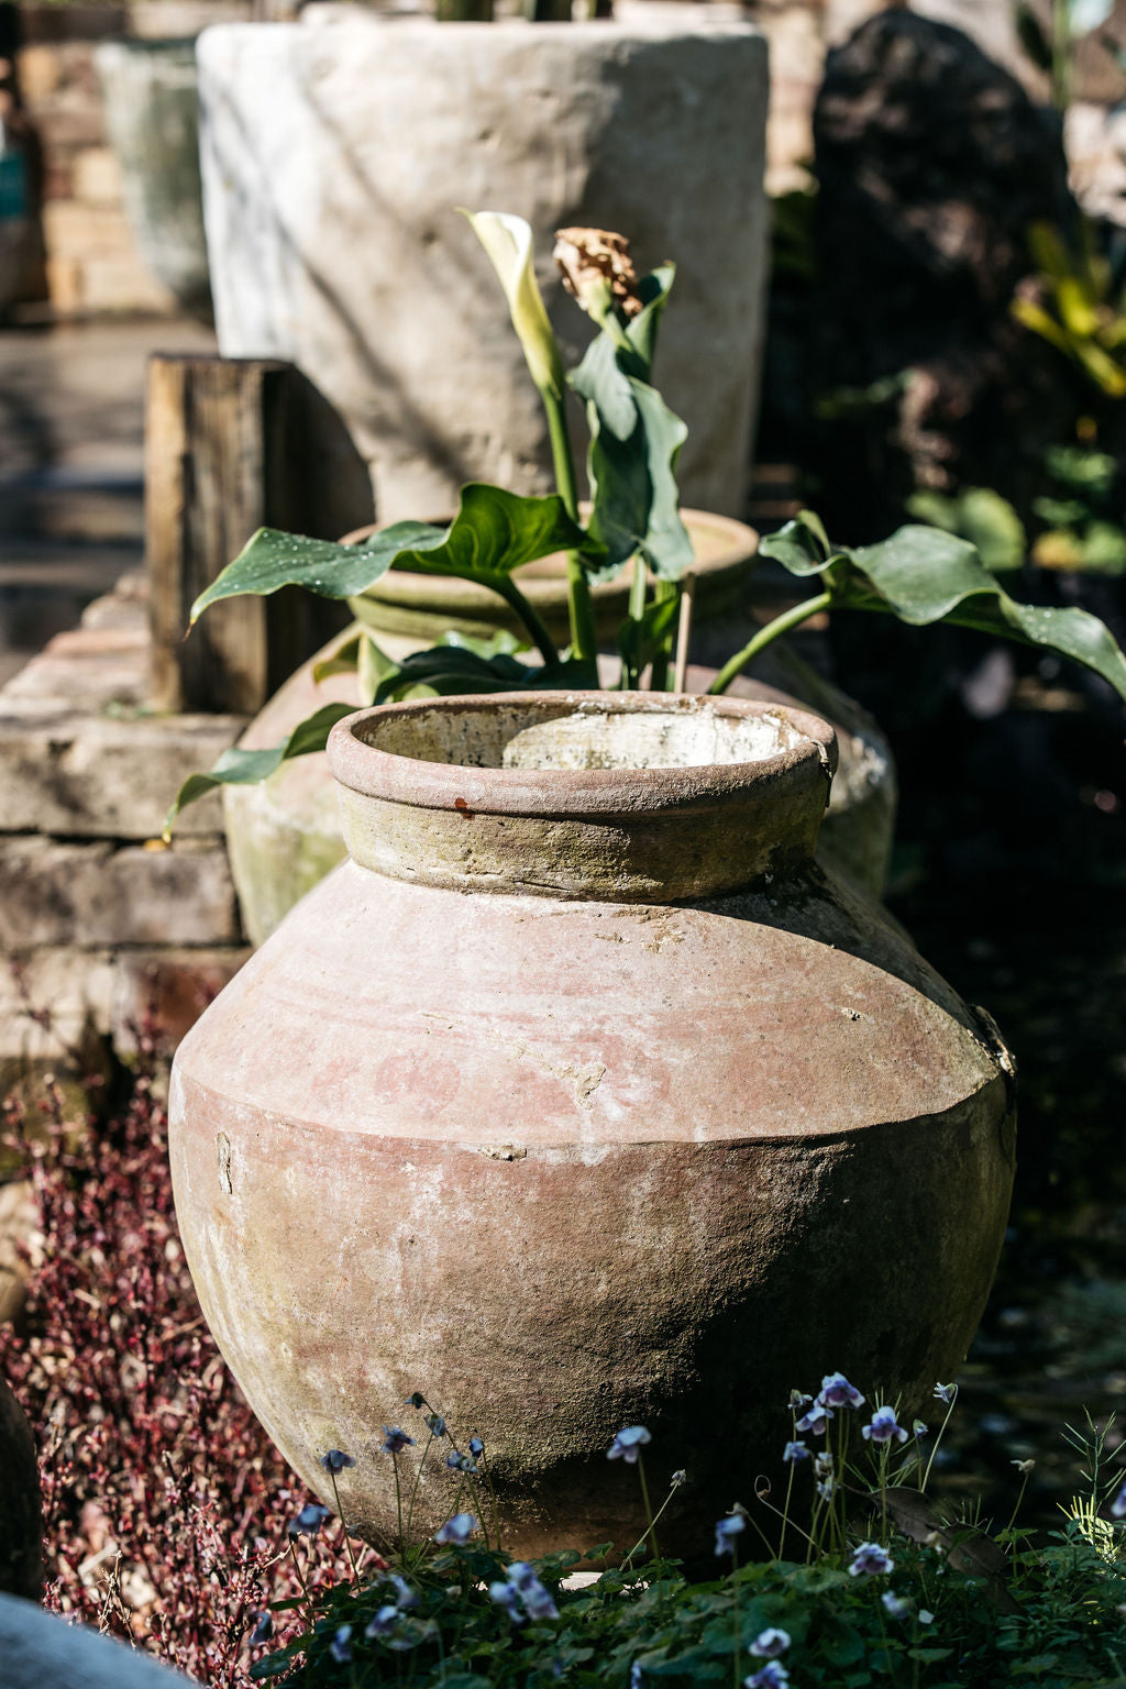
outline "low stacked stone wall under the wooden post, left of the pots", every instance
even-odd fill
[[[218,799],[165,850],[179,784],[240,716],[147,708],[147,578],[96,600],[0,689],[0,1096],[172,1047],[246,956]]]

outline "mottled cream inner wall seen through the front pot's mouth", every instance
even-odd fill
[[[496,703],[496,701],[495,701]],[[804,743],[783,714],[734,714],[719,704],[636,708],[560,699],[559,713],[527,704],[419,711],[365,723],[363,738],[392,755],[471,768],[706,768],[766,762]]]

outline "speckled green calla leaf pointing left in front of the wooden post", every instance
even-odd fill
[[[424,574],[457,574],[493,584],[523,562],[552,551],[589,544],[567,515],[562,498],[522,498],[500,486],[471,481],[447,529],[397,522],[363,546],[304,539],[258,529],[243,551],[192,605],[196,622],[208,605],[241,593],[260,596],[304,586],[322,598],[355,598],[392,566]]]

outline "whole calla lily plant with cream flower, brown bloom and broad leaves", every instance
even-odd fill
[[[260,529],[198,598],[192,623],[219,600],[275,593],[290,584],[349,600],[363,615],[363,595],[388,571],[446,576],[501,598],[523,637],[500,633],[481,642],[451,633],[429,650],[393,660],[373,630],[361,627],[331,659],[333,671],[356,672],[361,701],[380,704],[528,686],[587,689],[598,686],[593,589],[631,568],[628,615],[618,628],[620,687],[675,686],[677,665],[682,671],[685,662],[694,589],[692,544],[675,483],[685,427],[652,385],[674,267],[662,265],[638,279],[620,236],[562,231],[557,257],[564,275],[598,328],[579,367],[566,373],[535,282],[528,225],[503,213],[476,213],[471,223],[503,284],[545,407],[557,491],[535,498],[469,483],[449,525],[397,522],[361,544]],[[582,402],[589,426],[586,515],[579,510],[567,434],[569,392]],[[560,551],[567,557],[567,645],[557,644],[517,583],[522,566]],[[817,517],[802,512],[765,539],[760,551],[795,578],[815,581],[817,591],[736,650],[716,676],[714,694],[728,691],[760,652],[810,616],[866,610],[915,627],[950,622],[1045,647],[1094,669],[1126,698],[1126,659],[1096,616],[1018,603],[989,574],[977,549],[954,534],[907,525],[876,546],[849,549],[834,546]],[[530,652],[539,660],[525,660]],[[214,787],[257,784],[284,762],[324,750],[333,725],[349,713],[349,704],[326,704],[275,747],[225,752],[214,768],[184,784],[169,829],[179,809]]]

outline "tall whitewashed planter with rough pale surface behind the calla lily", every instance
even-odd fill
[[[677,260],[658,378],[689,424],[680,488],[743,513],[768,248],[755,29],[348,7],[218,25],[198,56],[219,350],[317,383],[382,522],[451,508],[469,480],[554,486],[503,291],[457,206],[528,220],[569,363],[589,324],[550,263],[557,228],[621,230],[640,269]]]

